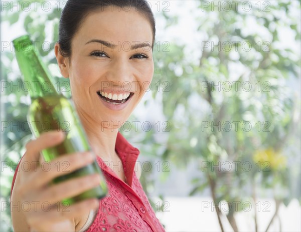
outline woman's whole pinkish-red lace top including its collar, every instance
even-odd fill
[[[119,132],[115,150],[122,162],[127,184],[112,171],[119,167],[110,167],[97,156],[97,163],[108,185],[108,195],[99,200],[98,212],[86,231],[165,231],[134,171],[139,150],[131,146]],[[13,178],[12,190],[18,167],[19,164]]]

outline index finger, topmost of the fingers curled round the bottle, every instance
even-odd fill
[[[39,138],[32,140],[26,144],[26,153],[22,158],[22,162],[37,162],[40,159],[40,151],[45,148],[53,147],[63,142],[65,137],[62,131],[44,132]],[[31,167],[33,169],[33,167]]]

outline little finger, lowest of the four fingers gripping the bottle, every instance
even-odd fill
[[[58,207],[58,205],[60,205]],[[72,219],[73,217],[83,215],[88,213],[91,209],[97,209],[99,207],[99,200],[97,198],[92,198],[72,205],[52,205],[51,210],[39,210],[29,213],[34,215],[28,218],[30,224],[39,223],[56,223],[65,219]]]

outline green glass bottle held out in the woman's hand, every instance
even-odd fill
[[[62,130],[66,134],[61,144],[42,151],[45,161],[49,162],[63,154],[91,151],[72,101],[56,91],[47,69],[34,50],[30,37],[28,35],[19,37],[13,43],[19,68],[24,76],[24,84],[29,85],[31,105],[27,121],[33,135],[38,137],[42,132],[50,130]],[[65,171],[66,175],[55,178],[53,184],[93,173],[99,173],[102,179],[99,186],[72,198],[64,199],[63,204],[70,205],[80,200],[94,197],[100,199],[106,196],[107,185],[96,160],[71,173],[68,172],[66,163]]]

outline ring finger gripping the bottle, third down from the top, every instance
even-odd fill
[[[101,178],[99,174],[73,178],[62,183],[55,184],[43,190],[35,200],[39,202],[47,201],[49,204],[54,204],[65,198],[70,198],[79,195],[91,188],[99,185]]]

